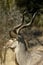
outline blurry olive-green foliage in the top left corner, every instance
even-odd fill
[[[10,10],[13,5],[13,0],[0,0],[0,6],[4,11]]]

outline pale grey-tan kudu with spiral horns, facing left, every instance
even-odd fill
[[[12,44],[8,47],[14,49],[16,60],[19,65],[40,65],[42,56],[38,51],[27,51],[24,37],[20,34],[20,30],[32,24],[37,12],[33,15],[31,21],[26,25],[19,25],[9,32],[10,37],[13,38]],[[24,19],[23,19],[24,20]],[[22,22],[23,23],[23,22]]]

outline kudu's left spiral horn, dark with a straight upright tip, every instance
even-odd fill
[[[24,13],[21,24],[15,26],[11,31],[9,31],[9,35],[11,38],[14,38],[14,36],[18,33],[18,29],[23,25],[23,23],[24,23]]]

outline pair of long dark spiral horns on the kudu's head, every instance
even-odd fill
[[[36,11],[36,12],[33,14],[33,17],[32,17],[32,19],[31,19],[31,21],[30,21],[28,24],[24,24],[24,25],[23,25],[23,23],[24,23],[24,14],[23,14],[22,23],[19,24],[19,25],[16,26],[16,27],[14,27],[13,30],[11,30],[11,31],[9,32],[10,37],[13,37],[13,38],[14,38],[14,36],[16,36],[17,34],[20,33],[20,30],[21,30],[21,29],[26,28],[26,27],[28,27],[28,26],[31,26],[32,23],[33,23],[33,21],[34,21],[34,19],[35,19],[35,17],[36,17],[36,15],[37,15],[37,12],[38,12],[38,11]]]

